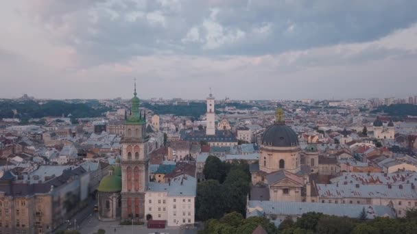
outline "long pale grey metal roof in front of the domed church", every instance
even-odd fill
[[[251,209],[252,208],[252,209]],[[298,203],[269,200],[248,201],[248,212],[246,217],[276,214],[280,216],[302,216],[307,212],[320,212],[329,216],[347,216],[357,218],[362,209],[365,208],[368,218],[395,217],[395,212],[388,206],[383,205],[353,205],[335,203]],[[256,212],[258,211],[258,212]]]

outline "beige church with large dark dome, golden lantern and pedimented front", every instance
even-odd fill
[[[285,125],[283,109],[276,110],[276,121],[263,133],[259,164],[251,165],[252,184],[265,188],[263,198],[252,200],[305,200],[306,178],[301,168],[298,136]],[[307,168],[309,168],[307,166]],[[310,171],[307,170],[308,174]]]

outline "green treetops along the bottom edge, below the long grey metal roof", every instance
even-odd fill
[[[265,217],[243,219],[239,213],[229,213],[219,220],[207,220],[200,234],[250,234],[261,225],[267,233],[279,234],[413,234],[417,233],[417,212],[407,211],[406,218],[367,219],[358,212],[358,218],[327,216],[322,213],[304,213],[294,222],[287,217],[276,227]]]

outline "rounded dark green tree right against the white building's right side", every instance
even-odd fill
[[[219,181],[208,179],[198,183],[195,210],[200,220],[223,216],[224,200],[219,194],[222,194],[222,185]]]

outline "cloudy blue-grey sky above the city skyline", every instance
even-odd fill
[[[0,98],[417,94],[416,0],[5,0]]]

